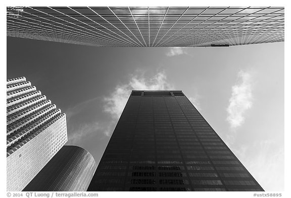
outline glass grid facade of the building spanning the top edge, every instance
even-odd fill
[[[7,36],[93,46],[284,41],[284,7],[7,7]]]

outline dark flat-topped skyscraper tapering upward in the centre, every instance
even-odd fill
[[[132,91],[88,191],[263,191],[181,91]]]

